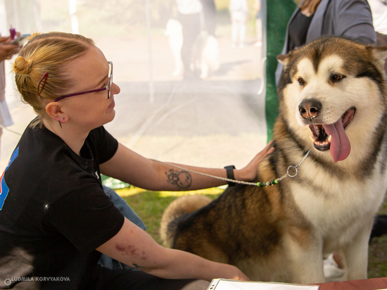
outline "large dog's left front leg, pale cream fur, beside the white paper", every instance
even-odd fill
[[[284,246],[288,256],[289,282],[310,284],[325,282],[322,264],[322,239],[312,237],[310,233],[286,234]]]

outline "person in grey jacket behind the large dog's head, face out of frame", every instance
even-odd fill
[[[282,54],[327,35],[376,45],[372,13],[367,0],[303,1],[288,21]],[[282,68],[281,64],[277,66],[277,85]]]

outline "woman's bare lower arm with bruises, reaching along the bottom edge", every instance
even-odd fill
[[[164,248],[125,219],[118,234],[96,249],[126,265],[164,279],[248,280],[238,268],[184,251]]]

